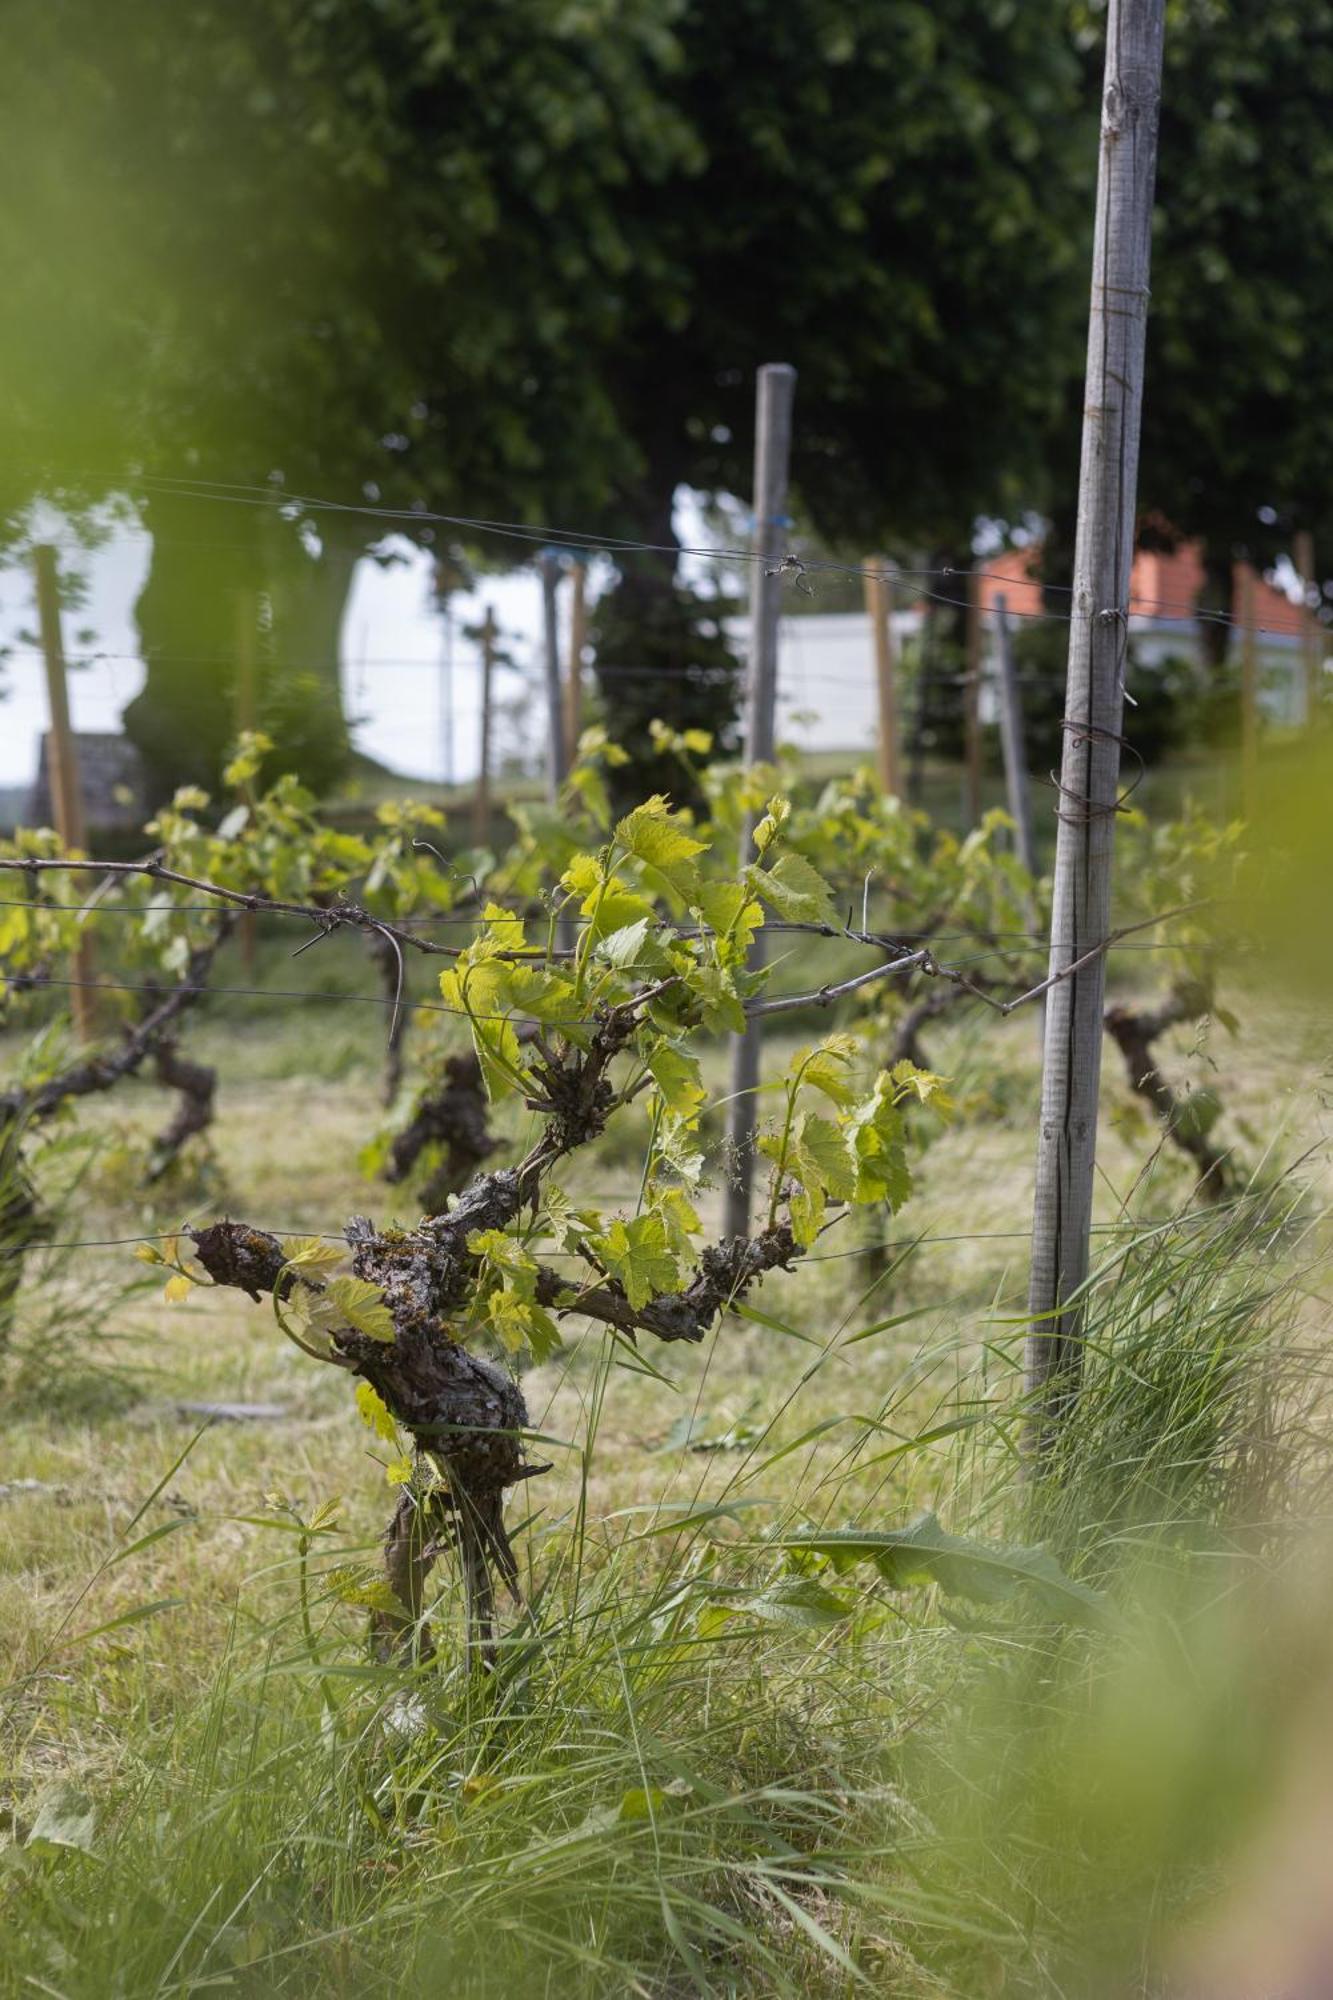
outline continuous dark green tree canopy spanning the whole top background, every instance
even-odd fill
[[[1059,518],[1099,26],[1087,0],[1063,32],[1031,0],[26,8],[0,518],[34,492],[146,508],[132,724],[196,778],[236,590],[270,592],[274,672],[328,678],[384,522],[164,480],[671,544],[681,480],[749,490],[753,374],[783,358],[823,536]],[[1325,516],[1333,4],[1179,0],[1167,46],[1143,500],[1229,554]],[[656,630],[671,584],[634,562],[620,686],[630,612]]]

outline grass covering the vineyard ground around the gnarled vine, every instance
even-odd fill
[[[372,990],[336,944],[300,980],[264,950],[256,984],[308,982]],[[0,1994],[975,2000],[1161,1990],[1245,1950],[1267,1976],[1259,1842],[1305,1826],[1291,1772],[1327,1746],[1327,1186],[1273,1164],[1317,1136],[1323,1038],[1291,1004],[1237,1012],[1263,1036],[1227,1058],[1259,1190],[1233,1210],[1169,1220],[1187,1174],[1109,1074],[1063,1480],[1015,1478],[1035,1042],[965,1022],[929,1044],[965,1116],[895,1228],[919,1248],[877,1270],[835,1238],[763,1320],[648,1356],[671,1388],[592,1334],[528,1378],[554,1472],[484,1686],[448,1576],[436,1668],[368,1664],[340,1574],[374,1562],[388,1490],[340,1380],[238,1294],[126,1292],[128,1250],[34,1258],[22,1340],[62,1394],[0,1434]],[[62,1228],[408,1214],[356,1168],[380,1036],[376,1008],[210,1004],[212,1160],[148,1198],[158,1094],[90,1106]],[[630,1134],[584,1186],[628,1194],[634,1164]],[[184,1408],[210,1400],[284,1416]],[[1113,1616],[781,1550],[921,1506],[1041,1534]]]

